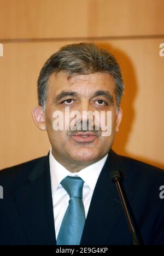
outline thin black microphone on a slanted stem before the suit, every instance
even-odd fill
[[[119,172],[119,171],[113,171],[113,172],[111,172],[111,173],[110,173],[110,178],[111,178],[112,181],[115,183],[116,188],[118,189],[118,193],[119,193],[119,196],[120,196],[120,200],[121,200],[121,203],[122,203],[122,207],[124,208],[124,212],[125,212],[125,216],[126,216],[126,219],[127,219],[127,223],[128,223],[130,232],[131,232],[131,234],[132,234],[133,245],[139,245],[139,242],[138,242],[138,240],[137,240],[136,231],[135,231],[134,226],[133,226],[133,224],[132,224],[131,217],[130,217],[130,213],[128,212],[126,200],[125,200],[124,194],[123,194],[122,189],[121,189],[120,183],[121,183],[121,179],[122,179],[122,178],[121,178],[120,172]]]

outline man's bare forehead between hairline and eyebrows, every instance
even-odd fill
[[[79,94],[92,94],[97,90],[108,90],[114,94],[115,83],[112,75],[107,73],[92,73],[85,75],[73,75],[68,78],[67,72],[59,72],[50,75],[49,94],[58,95],[63,90],[77,91]]]

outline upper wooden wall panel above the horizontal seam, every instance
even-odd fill
[[[163,34],[163,0],[1,0],[0,41]]]

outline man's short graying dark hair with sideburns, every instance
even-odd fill
[[[52,54],[42,67],[38,78],[38,103],[45,109],[48,80],[52,73],[68,72],[68,77],[95,72],[108,73],[115,81],[116,106],[120,106],[124,93],[121,68],[115,57],[93,43],[63,46]]]

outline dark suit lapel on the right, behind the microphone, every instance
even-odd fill
[[[114,170],[123,173],[126,195],[128,199],[132,197],[124,162],[110,150],[92,196],[81,245],[109,245],[120,218],[125,218],[118,191],[110,178],[110,172]]]

